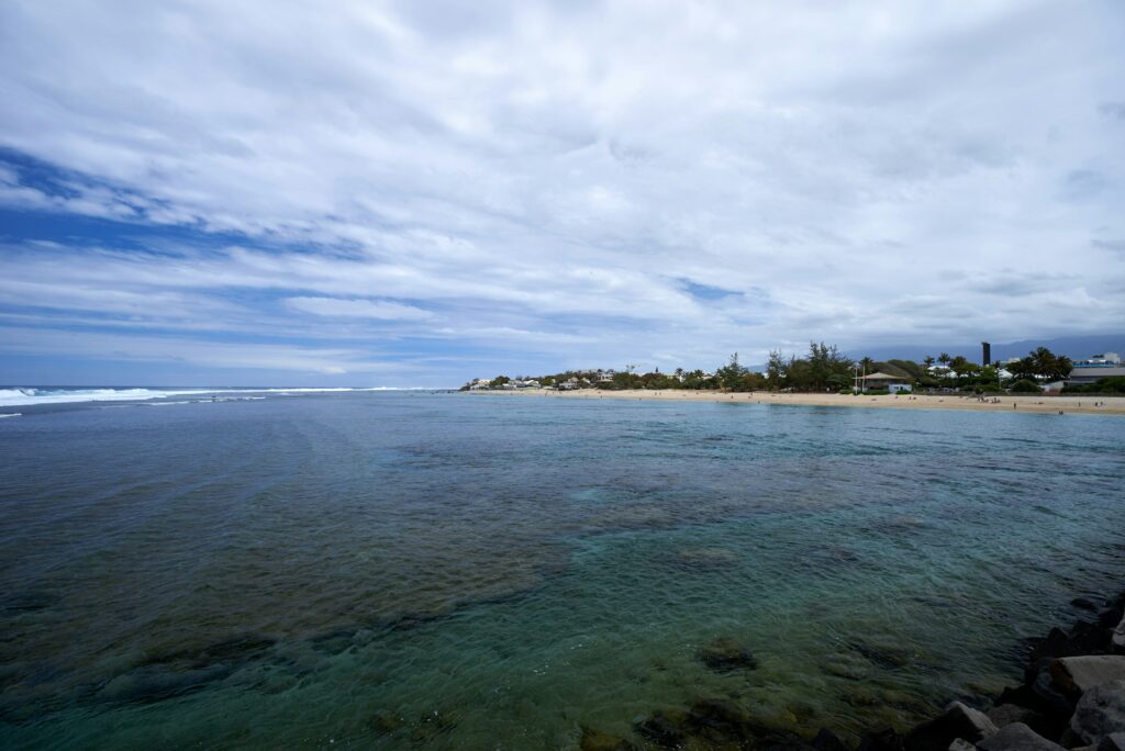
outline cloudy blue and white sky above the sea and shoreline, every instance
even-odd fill
[[[0,383],[1125,328],[1125,3],[0,4]]]

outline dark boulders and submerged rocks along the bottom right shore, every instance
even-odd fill
[[[999,697],[953,702],[904,734],[868,731],[857,751],[1125,751],[1125,594],[1100,607],[1086,606],[1096,618],[1069,631],[1053,628],[1029,643],[1023,685]],[[699,659],[720,671],[756,667],[749,650],[731,640],[705,645]],[[637,741],[584,729],[580,748],[848,749],[830,730],[804,738],[727,699],[704,698],[684,711],[658,712],[639,720],[634,730]]]

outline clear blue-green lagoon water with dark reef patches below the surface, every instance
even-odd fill
[[[0,420],[0,744],[567,749],[701,697],[854,738],[1123,588],[1112,417],[262,396]]]

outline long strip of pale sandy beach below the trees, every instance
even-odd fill
[[[1023,411],[1058,415],[1125,415],[1125,397],[1000,395],[984,401],[973,396],[955,393],[917,396],[850,396],[839,393],[774,393],[753,391],[724,393],[722,391],[551,391],[528,389],[521,391],[485,391],[470,393],[542,397],[548,399],[666,399],[672,401],[735,401],[777,406],[817,407],[884,407],[891,409],[969,409],[974,411]]]

